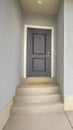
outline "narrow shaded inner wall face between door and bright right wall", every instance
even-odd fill
[[[64,1],[60,3],[57,15],[57,82],[64,94]]]

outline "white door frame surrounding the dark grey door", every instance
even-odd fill
[[[38,26],[38,25],[24,25],[24,78],[27,77],[27,29],[36,28],[36,29],[46,29],[51,30],[51,77],[55,77],[55,46],[54,46],[54,27],[48,26]]]

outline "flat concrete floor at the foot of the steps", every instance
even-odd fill
[[[3,130],[73,130],[73,112],[12,115]]]

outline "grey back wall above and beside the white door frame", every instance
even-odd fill
[[[55,40],[55,49],[56,49],[56,16],[24,14],[24,26],[25,25],[38,25],[38,26],[54,27],[54,30],[55,30],[55,39],[54,40]],[[22,68],[22,77],[24,76],[24,73],[26,73],[26,72],[24,72],[24,65],[26,64],[26,61],[24,63],[23,56],[24,56],[24,45],[22,45],[22,67],[21,67]],[[56,72],[56,69],[55,69],[55,72]],[[26,75],[25,75],[25,77],[26,77]]]

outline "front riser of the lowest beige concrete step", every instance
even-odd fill
[[[58,111],[64,111],[63,105],[58,106],[44,106],[44,107],[27,107],[22,109],[13,109],[11,110],[11,114],[31,114],[31,113],[48,113],[48,112],[58,112]]]

